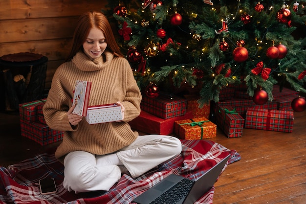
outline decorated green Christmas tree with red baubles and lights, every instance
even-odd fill
[[[254,96],[284,85],[306,93],[303,1],[109,0],[118,43],[141,90],[193,92],[200,106],[228,86]],[[115,32],[116,34],[116,32]]]

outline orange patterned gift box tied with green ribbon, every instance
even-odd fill
[[[217,136],[217,125],[206,117],[178,120],[174,131],[181,139],[205,139]]]

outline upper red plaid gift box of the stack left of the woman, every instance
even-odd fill
[[[22,120],[27,122],[37,121],[37,106],[44,104],[46,99],[19,104],[19,114]]]

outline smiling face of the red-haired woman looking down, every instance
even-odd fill
[[[83,43],[83,49],[88,57],[96,59],[105,51],[107,45],[104,33],[100,29],[93,27]]]

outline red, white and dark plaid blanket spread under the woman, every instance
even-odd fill
[[[134,198],[170,174],[197,179],[221,159],[231,154],[227,164],[241,159],[235,150],[208,140],[181,140],[180,156],[157,166],[137,178],[122,175],[120,181],[106,191],[75,194],[63,187],[64,166],[54,157],[54,151],[23,160],[7,168],[0,166],[0,203],[4,204],[130,204]],[[224,169],[227,165],[225,165]],[[224,171],[223,169],[223,171]],[[57,193],[41,195],[38,181],[53,177]],[[196,204],[212,204],[214,187]]]

